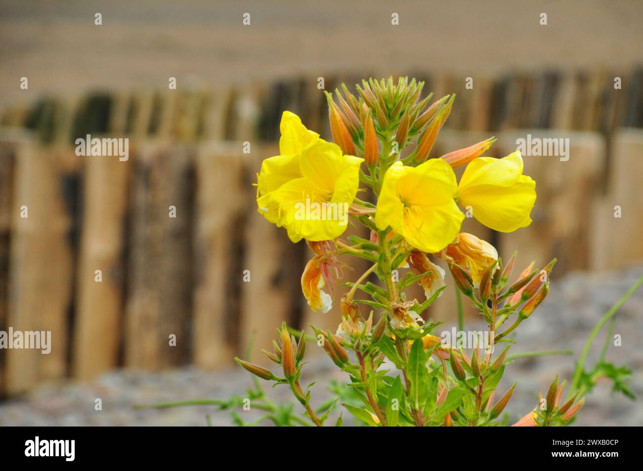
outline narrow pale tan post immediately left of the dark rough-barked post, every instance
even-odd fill
[[[89,157],[86,161],[73,330],[73,374],[82,379],[118,366],[131,162],[118,157]],[[100,282],[96,281],[96,270],[101,271]]]

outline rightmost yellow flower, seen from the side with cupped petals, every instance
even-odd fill
[[[522,172],[520,152],[502,159],[478,157],[460,179],[458,203],[471,206],[473,217],[496,231],[527,227],[536,202],[536,182]]]

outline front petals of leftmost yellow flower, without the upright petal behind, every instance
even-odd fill
[[[363,161],[344,156],[338,145],[318,139],[302,150],[302,176],[271,191],[265,200],[258,199],[259,212],[268,200],[269,207],[273,205],[277,211],[275,224],[284,226],[293,242],[337,238],[347,228],[348,209],[358,192]]]

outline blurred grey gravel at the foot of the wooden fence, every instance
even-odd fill
[[[554,280],[547,301],[530,317],[516,337],[513,353],[530,350],[571,349],[578,354],[586,336],[601,315],[622,296],[643,273],[643,267],[624,273],[570,274]],[[633,393],[643,396],[643,354],[640,340],[643,332],[643,290],[638,290],[616,316],[614,333],[622,335],[622,346],[611,347],[607,359],[626,364],[633,371],[629,383]],[[471,324],[471,328],[473,328]],[[467,327],[469,327],[467,325]],[[450,326],[446,326],[450,328]],[[482,328],[482,326],[480,326]],[[599,355],[604,335],[597,337],[588,365]],[[329,397],[321,385],[330,378],[342,379],[324,358],[312,360],[306,368],[308,380],[314,377],[312,391],[316,403]],[[534,407],[538,391],[547,391],[556,376],[570,379],[572,357],[519,359],[508,368],[501,391],[514,380],[518,387],[507,411],[519,418]],[[219,373],[183,368],[163,373],[114,371],[93,382],[47,384],[29,396],[0,405],[0,425],[206,425],[206,415],[214,425],[231,425],[226,411],[214,412],[208,406],[176,407],[134,411],[132,405],[152,404],[203,398],[226,398],[243,395],[251,382],[240,369]],[[269,395],[290,400],[287,389],[270,389]],[[95,400],[102,400],[102,411],[95,411]],[[252,420],[257,411],[241,412]],[[586,405],[575,425],[643,425],[643,405],[622,395],[611,395],[609,384],[599,384],[588,395]]]

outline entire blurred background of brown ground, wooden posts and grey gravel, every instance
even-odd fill
[[[528,134],[570,139],[568,161],[525,156],[531,226],[463,228],[505,259],[519,249],[520,269],[559,259],[516,351],[574,357],[517,360],[507,381],[526,384],[510,410],[522,416],[643,272],[642,13],[608,1],[0,1],[0,330],[52,339],[49,355],[0,350],[0,425],[204,425],[203,409],[131,405],[242,392],[233,356],[251,347],[260,362],[282,320],[334,330],[338,309],[314,314],[300,291],[311,252],[257,214],[251,184],[278,153],[283,111],[331,138],[320,78],[332,91],[390,75],[457,94],[433,157],[491,136],[495,157]],[[129,138],[129,159],[76,156],[87,134]],[[635,393],[642,305],[638,293],[622,307],[623,344],[608,353],[634,371]],[[449,289],[428,317],[455,313]],[[608,386],[595,397],[578,423],[643,423]]]

